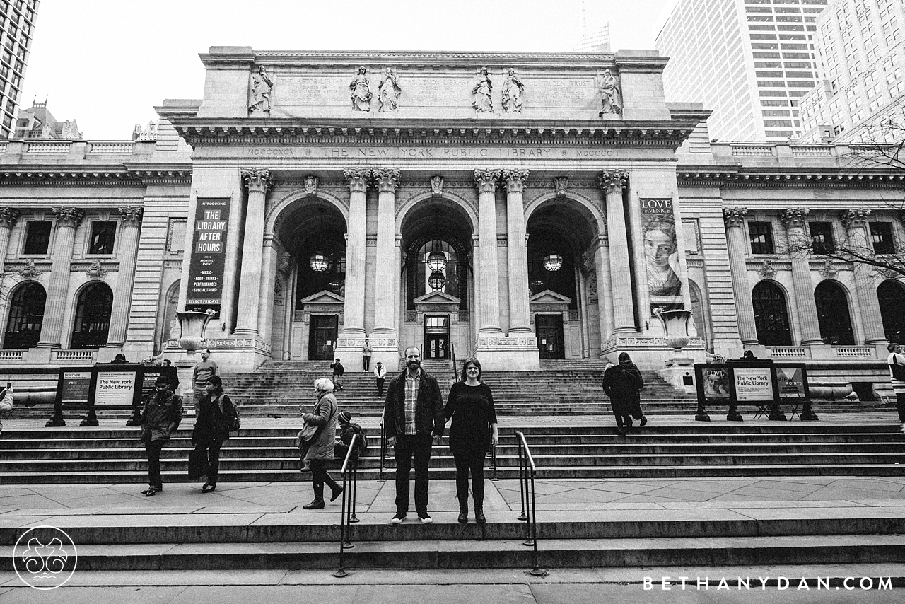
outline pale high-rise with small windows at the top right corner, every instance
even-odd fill
[[[894,110],[905,97],[905,3],[831,0],[816,24],[825,80],[802,98],[801,139],[861,139],[853,129]]]

